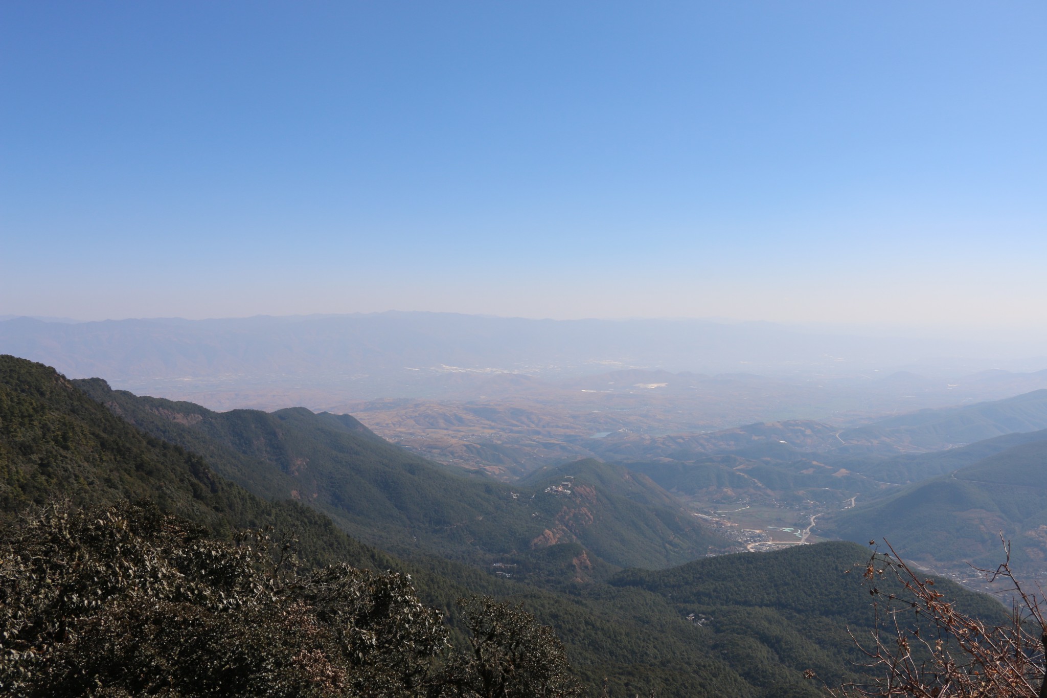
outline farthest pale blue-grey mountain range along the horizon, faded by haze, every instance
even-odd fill
[[[856,376],[923,366],[1044,368],[1029,346],[805,332],[770,322],[531,320],[451,313],[0,322],[0,351],[114,384],[335,381],[354,399],[423,397],[453,374],[561,378],[611,368]],[[1040,353],[1041,355],[1043,352]],[[925,371],[927,373],[927,371]],[[310,384],[312,382],[312,384]]]

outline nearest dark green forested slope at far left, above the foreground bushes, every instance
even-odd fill
[[[151,499],[210,532],[271,525],[313,562],[385,569],[361,545],[296,502],[267,502],[219,477],[199,455],[142,433],[53,368],[0,356],[0,516],[55,498],[74,504]]]

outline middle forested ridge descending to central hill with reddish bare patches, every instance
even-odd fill
[[[433,464],[376,436],[349,415],[304,408],[214,412],[199,405],[76,381],[141,429],[204,455],[219,474],[266,498],[294,497],[351,535],[401,555],[491,564],[559,542],[580,542],[619,565],[667,566],[729,543],[646,483],[644,505],[619,491],[624,471],[591,461],[574,496],[549,483],[507,485]],[[580,467],[579,467],[580,468]],[[570,474],[564,471],[563,474]],[[517,497],[513,497],[515,492]]]

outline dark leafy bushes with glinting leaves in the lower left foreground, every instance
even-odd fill
[[[409,578],[299,569],[155,506],[47,509],[0,530],[0,691],[13,696],[579,695],[556,635],[467,605],[472,651]]]

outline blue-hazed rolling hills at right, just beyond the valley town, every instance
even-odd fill
[[[605,451],[621,451],[619,463],[687,497],[709,499],[726,493],[734,500],[825,503],[896,494],[895,486],[1047,441],[1043,425],[1047,390],[1034,390],[843,431],[809,421],[754,424],[708,434],[648,437],[645,443],[633,438],[630,447],[610,444]]]

